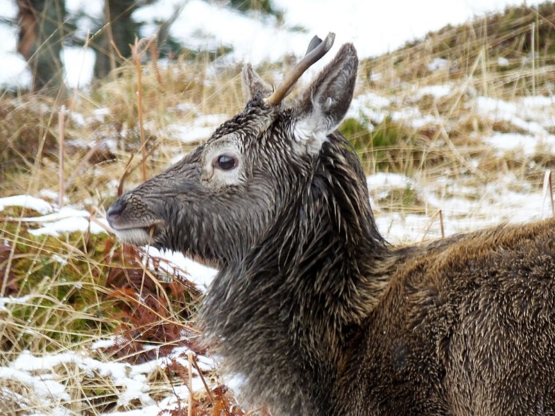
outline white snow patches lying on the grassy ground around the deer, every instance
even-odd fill
[[[454,85],[435,85],[417,89],[413,92],[416,100],[419,97],[432,95],[435,98],[452,94]],[[555,153],[555,136],[550,134],[555,126],[554,98],[528,97],[515,101],[495,100],[483,96],[475,96],[469,101],[474,111],[480,112],[492,121],[508,121],[518,125],[522,133],[494,132],[490,136],[482,137],[483,146],[491,153],[503,157],[506,153],[515,153],[523,157],[532,157],[538,151]],[[419,114],[416,107],[404,107],[391,110],[392,98],[377,96],[370,93],[359,95],[352,103],[350,116],[361,117],[364,120],[377,120],[395,115],[410,125],[425,125],[426,123],[445,123],[441,119],[430,119]],[[216,127],[221,121],[221,115],[199,117],[194,123],[180,125],[182,140],[206,137],[207,132]],[[185,134],[187,132],[187,134]],[[536,137],[536,139],[533,139]],[[178,136],[179,137],[179,136]],[[479,161],[469,161],[479,164]],[[467,232],[472,229],[495,225],[500,222],[521,223],[552,214],[552,207],[548,193],[530,184],[522,184],[519,191],[511,189],[507,182],[517,181],[511,175],[495,177],[491,182],[466,186],[463,181],[427,180],[422,177],[407,177],[396,173],[375,173],[368,175],[368,189],[370,200],[373,202],[375,217],[380,231],[391,243],[418,243],[425,239],[441,237],[438,211],[443,214],[443,229],[445,235],[456,232]],[[410,212],[396,212],[388,209],[388,196],[395,190],[413,190],[418,198],[424,201],[425,211],[419,214]],[[479,196],[479,198],[476,198]],[[382,201],[382,202],[380,202]],[[104,218],[94,218],[89,210],[83,207],[56,207],[56,204],[44,198],[33,196],[13,196],[0,198],[0,211],[10,206],[25,206],[37,211],[42,216],[22,218],[22,221],[32,223],[28,229],[35,236],[41,234],[60,235],[66,232],[105,233],[109,229]],[[187,270],[189,279],[201,291],[205,291],[215,275],[215,270],[201,266],[181,254],[151,250],[155,257],[168,260],[167,268]],[[63,261],[63,259],[60,259]],[[0,313],[10,313],[10,304],[29,302],[29,297],[0,299]],[[24,408],[36,407],[41,409],[35,415],[69,415],[67,404],[71,402],[71,385],[57,381],[60,365],[75,367],[78,374],[97,374],[107,379],[118,388],[117,405],[126,408],[133,402],[134,410],[110,413],[110,415],[158,415],[162,410],[175,409],[180,402],[187,401],[189,388],[180,385],[173,388],[171,395],[162,399],[155,399],[151,392],[153,374],[164,370],[171,360],[181,363],[183,367],[189,365],[187,350],[176,348],[169,356],[156,358],[146,363],[132,365],[119,361],[103,361],[92,358],[92,352],[100,345],[104,347],[117,343],[117,338],[99,340],[86,349],[67,351],[60,354],[33,356],[30,352],[22,354],[14,361],[0,367],[0,379],[9,379],[14,383],[23,384],[27,394],[20,397],[15,392],[4,392],[4,397],[13,397],[22,401]],[[153,345],[153,348],[155,346]],[[203,370],[214,367],[214,360],[203,355],[196,355],[196,361],[203,366]],[[193,368],[193,391],[202,392],[205,387]],[[6,390],[6,387],[4,388]],[[11,396],[10,396],[11,395]],[[46,410],[45,410],[46,409]],[[164,414],[164,413],[162,413]],[[169,414],[169,413],[168,413]]]

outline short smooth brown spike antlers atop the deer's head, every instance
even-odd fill
[[[310,41],[305,57],[302,58],[302,60],[300,60],[295,67],[293,67],[289,76],[283,80],[278,88],[275,89],[266,102],[272,105],[278,105],[281,103],[283,98],[289,94],[289,90],[298,81],[300,76],[332,48],[334,39],[335,33],[332,32],[327,34],[325,40],[320,40],[318,36],[314,36]]]

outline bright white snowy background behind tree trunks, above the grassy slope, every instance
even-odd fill
[[[540,0],[527,1],[528,6]],[[93,19],[102,16],[102,1],[67,0],[67,12],[81,13],[78,35],[85,39],[92,31]],[[133,12],[133,19],[146,22],[141,37],[155,33],[157,23],[175,13],[178,18],[171,26],[171,33],[190,48],[218,49],[232,46],[231,60],[259,63],[276,60],[289,53],[302,55],[307,39],[313,34],[321,37],[336,33],[336,46],[353,42],[359,55],[368,57],[398,48],[404,42],[424,36],[445,24],[461,24],[475,15],[502,10],[508,5],[518,5],[519,0],[429,0],[425,5],[409,0],[370,2],[343,0],[338,7],[334,0],[275,0],[275,8],[284,11],[284,23],[273,17],[251,13],[249,17],[221,6],[219,2],[203,0],[158,0]],[[433,12],[430,12],[433,10]],[[0,0],[0,15],[15,22],[17,8],[8,0]],[[250,18],[255,17],[255,18]],[[307,33],[294,31],[302,27]],[[238,29],[239,28],[239,29]],[[0,85],[24,87],[31,83],[31,74],[25,62],[15,51],[16,30],[0,25]],[[94,57],[92,51],[77,51],[65,47],[69,87],[83,86],[92,76]],[[447,65],[439,58],[429,62],[435,71]],[[321,67],[321,63],[316,67]]]

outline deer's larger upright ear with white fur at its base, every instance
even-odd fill
[[[293,131],[308,151],[318,153],[343,120],[355,90],[358,64],[355,46],[341,46],[297,105]]]

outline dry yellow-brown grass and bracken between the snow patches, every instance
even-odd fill
[[[466,193],[469,200],[479,200],[481,187],[492,182],[506,182],[506,191],[541,189],[546,169],[555,168],[550,149],[522,155],[518,151],[498,153],[486,146],[484,137],[495,132],[526,130],[509,119],[484,114],[476,100],[488,97],[513,102],[532,95],[553,95],[555,17],[549,10],[533,14],[536,38],[549,40],[536,43],[535,54],[530,51],[529,19],[513,17],[511,31],[493,31],[492,21],[477,21],[430,34],[423,42],[363,62],[356,94],[371,92],[387,98],[387,105],[373,109],[386,116],[348,120],[341,128],[350,135],[368,173],[401,173],[420,183],[447,181],[461,189],[475,189],[474,194]],[[435,58],[445,60],[441,69],[429,69]],[[508,66],[500,66],[499,58],[506,58]],[[263,76],[272,80],[273,68],[264,68]],[[194,123],[207,114],[231,116],[241,110],[239,70],[214,69],[202,58],[195,62],[182,59],[160,69],[160,85],[153,67],[143,66],[148,176],[191,149],[191,144],[171,135],[168,126]],[[450,92],[439,97],[418,95],[422,87],[436,85],[450,85]],[[141,182],[136,92],[136,70],[128,65],[90,92],[75,92],[64,103],[68,203],[103,215],[132,155],[137,156],[130,162],[126,187]],[[0,196],[59,191],[56,141],[61,104],[37,96],[0,99]],[[431,121],[414,125],[407,116],[395,116],[407,108]],[[550,111],[546,119],[555,120],[555,109]],[[523,120],[533,121],[526,116]],[[547,126],[547,133],[553,135],[555,125],[551,128]],[[514,180],[504,181],[509,174]],[[418,189],[408,185],[373,197],[377,209],[405,213],[427,209]],[[1,295],[22,298],[0,308],[0,367],[9,366],[26,352],[35,356],[83,352],[101,362],[132,363],[153,358],[152,352],[143,349],[149,343],[157,345],[156,354],[169,354],[176,345],[203,352],[195,341],[194,315],[200,293],[186,281],[144,268],[136,252],[122,248],[112,236],[32,236],[27,223],[18,218],[34,214],[26,209],[0,211]],[[94,341],[110,334],[118,334],[121,342],[90,351]],[[196,374],[202,374],[211,386],[220,382],[212,372]],[[83,371],[83,367],[64,362],[56,366],[54,376],[71,397],[63,404],[53,399],[50,408],[44,408],[44,397],[37,397],[28,384],[0,376],[3,413],[49,412],[65,406],[71,415],[97,415],[142,406],[137,401],[119,403],[123,386],[107,374]],[[144,376],[151,381],[148,394],[162,399],[187,385],[189,369],[184,361],[176,361],[173,367]],[[244,414],[237,406],[230,410],[232,401],[223,388],[200,390],[194,396],[194,414]],[[187,414],[187,406],[179,404],[175,414]]]

